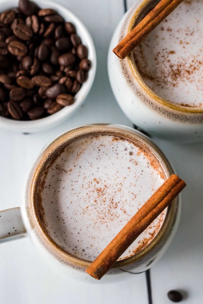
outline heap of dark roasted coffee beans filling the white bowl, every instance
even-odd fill
[[[81,38],[72,22],[33,1],[1,12],[0,116],[41,119],[75,102],[91,68]]]

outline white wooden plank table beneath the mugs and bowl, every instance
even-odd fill
[[[137,0],[135,0],[137,1]],[[107,76],[107,50],[113,31],[133,0],[58,0],[72,10],[93,36],[97,72],[84,106],[60,126],[35,134],[0,130],[0,209],[19,206],[23,181],[47,141],[85,123],[111,122],[132,126],[119,109]],[[178,232],[164,256],[152,267],[153,304],[172,303],[170,289],[187,293],[183,303],[203,302],[203,144],[180,145],[154,139],[187,183]],[[0,303],[139,303],[147,304],[145,273],[109,285],[88,285],[58,275],[28,237],[0,244]]]

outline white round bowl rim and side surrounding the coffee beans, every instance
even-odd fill
[[[94,43],[92,37],[82,22],[72,12],[56,2],[49,0],[36,0],[34,2],[37,3],[37,5],[39,5],[41,8],[55,9],[61,16],[64,17],[65,21],[70,21],[75,25],[77,33],[81,37],[82,43],[88,48],[88,59],[91,60],[92,67],[88,73],[87,81],[82,85],[79,92],[75,95],[75,102],[70,106],[64,107],[57,113],[33,121],[20,121],[0,116],[0,128],[21,133],[45,130],[63,122],[65,119],[68,119],[68,117],[70,117],[84,102],[89,90],[93,85],[96,72],[96,51]],[[0,12],[17,6],[18,0],[0,0]]]

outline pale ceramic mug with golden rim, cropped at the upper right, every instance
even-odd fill
[[[203,108],[177,105],[160,98],[143,81],[132,53],[120,60],[112,52],[152,2],[142,0],[135,4],[123,16],[113,34],[108,53],[111,88],[125,115],[147,133],[183,142],[202,140]]]

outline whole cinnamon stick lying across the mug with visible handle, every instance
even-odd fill
[[[86,272],[93,278],[100,280],[121,254],[173,201],[185,186],[186,184],[183,180],[177,175],[172,174],[90,264]]]

